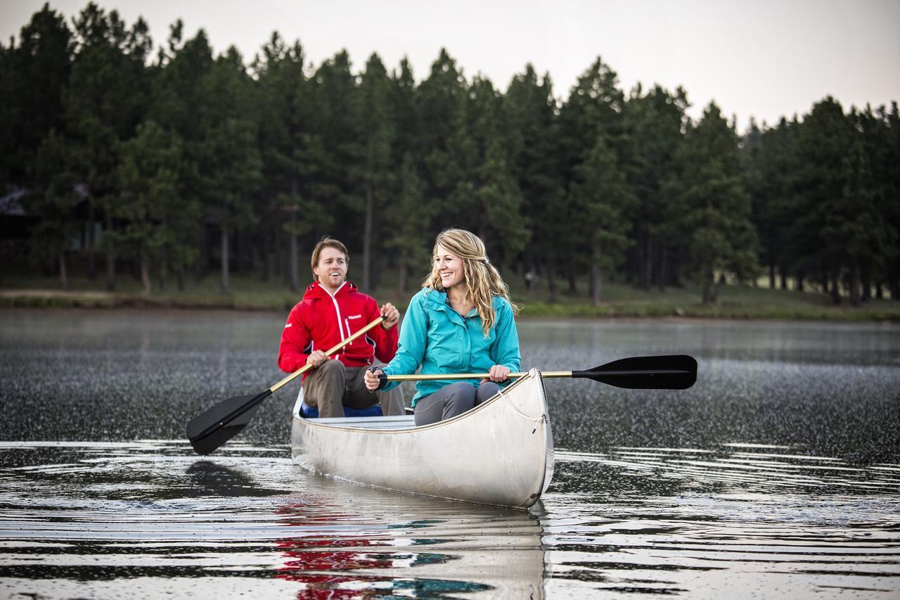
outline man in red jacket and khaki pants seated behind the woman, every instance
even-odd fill
[[[312,275],[300,303],[288,315],[278,349],[278,366],[293,373],[304,365],[303,401],[319,408],[320,417],[342,417],[344,406],[368,408],[381,403],[383,414],[404,414],[399,390],[370,392],[365,388],[365,369],[374,358],[390,362],[397,351],[400,312],[387,303],[380,309],[372,296],[362,294],[347,281],[347,247],[323,238],[312,250]],[[331,356],[324,350],[384,317],[381,325],[351,341]]]

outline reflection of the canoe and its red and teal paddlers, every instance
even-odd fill
[[[525,512],[305,479],[309,500],[278,510],[298,534],[277,541],[275,577],[301,584],[298,598],[544,597],[539,504]]]

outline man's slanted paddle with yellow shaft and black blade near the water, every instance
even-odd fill
[[[378,317],[372,323],[348,337],[347,340],[341,341],[334,348],[329,349],[325,352],[326,356],[334,354],[383,320],[384,317]],[[305,365],[291,375],[284,377],[275,386],[269,387],[265,392],[260,392],[257,395],[236,395],[193,417],[187,423],[187,439],[191,441],[193,450],[196,450],[198,454],[209,454],[212,450],[219,448],[247,426],[253,415],[257,413],[257,408],[263,403],[263,400],[272,395],[278,388],[291,383],[311,368],[310,365]]]

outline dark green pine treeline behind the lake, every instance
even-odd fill
[[[180,21],[155,51],[94,4],[71,26],[34,14],[0,49],[0,91],[0,179],[63,286],[80,236],[109,287],[134,265],[148,293],[216,268],[224,291],[235,271],[296,290],[331,234],[364,289],[389,268],[406,289],[458,226],[554,298],[587,274],[595,303],[613,278],[690,278],[715,303],[765,271],[835,302],[900,297],[896,103],[829,97],[741,136],[715,104],[691,120],[680,88],[626,94],[601,59],[563,100],[530,65],[503,92],[445,50],[419,83],[375,54],[315,67],[277,33],[249,62],[214,56]]]

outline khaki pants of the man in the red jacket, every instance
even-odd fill
[[[368,367],[346,367],[329,359],[313,368],[303,381],[303,402],[319,408],[320,418],[344,416],[344,406],[368,408],[381,403],[385,415],[406,414],[399,387],[390,392],[370,392],[363,376]]]

